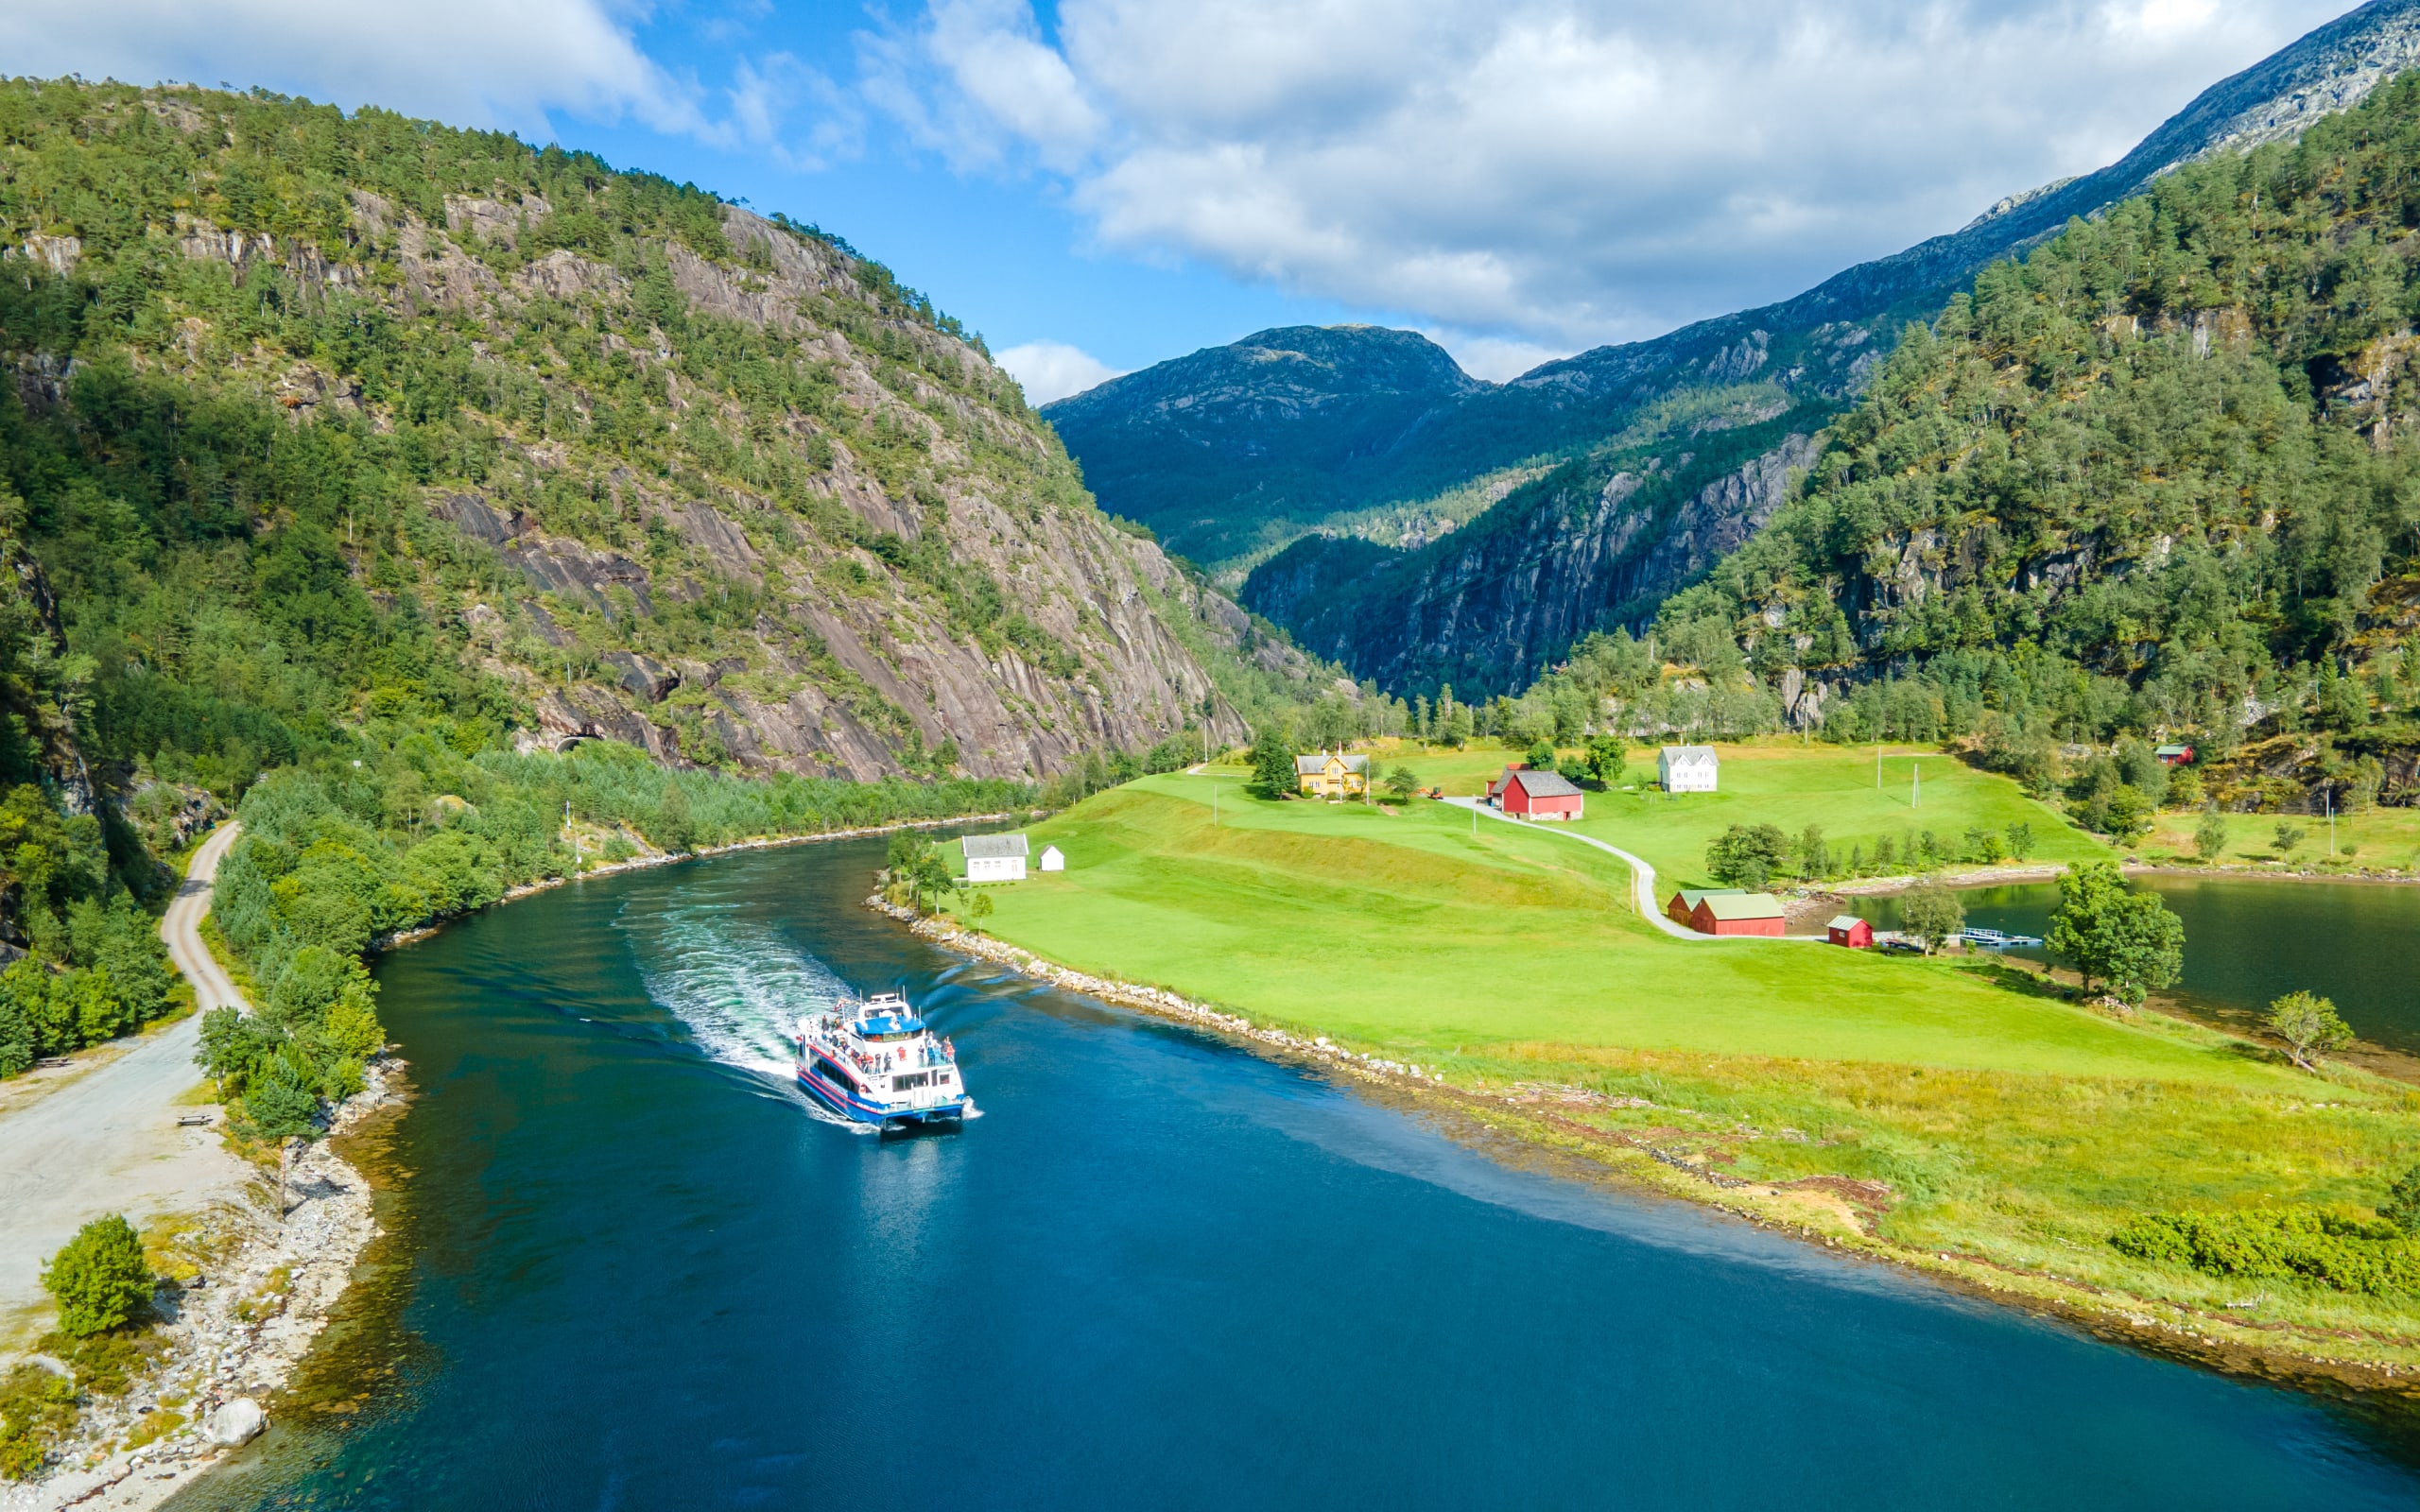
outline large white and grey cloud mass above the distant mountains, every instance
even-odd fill
[[[1099,242],[1496,365],[1786,298],[2088,172],[2345,0],[929,0],[866,99]],[[1498,346],[1481,348],[1481,339]]]

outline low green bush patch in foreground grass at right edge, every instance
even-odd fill
[[[2110,1248],[2205,1275],[2318,1282],[2364,1297],[2420,1292],[2420,1241],[2393,1224],[2311,1207],[2144,1214],[2110,1234]]]

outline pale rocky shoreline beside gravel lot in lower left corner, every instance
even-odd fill
[[[332,1137],[404,1098],[399,1060],[370,1062],[363,1081],[336,1108]],[[157,1507],[266,1427],[264,1398],[293,1377],[378,1236],[370,1183],[329,1139],[293,1161],[288,1200],[286,1222],[269,1212],[273,1185],[257,1207],[227,1202],[196,1217],[196,1248],[218,1258],[162,1287],[165,1352],[123,1396],[85,1410],[73,1437],[53,1447],[46,1478],[0,1488],[0,1512]],[[126,1447],[138,1437],[148,1442]]]

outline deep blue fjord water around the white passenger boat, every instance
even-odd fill
[[[2326,1403],[941,956],[871,842],[561,888],[380,968],[419,1089],[356,1316],[177,1507],[2408,1507]],[[1316,939],[1304,941],[1316,948]],[[1517,963],[1508,963],[1515,989]],[[782,1023],[905,987],[985,1118]]]

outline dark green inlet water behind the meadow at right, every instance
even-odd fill
[[[2287,992],[2333,997],[2352,1033],[2420,1055],[2420,888],[2144,873],[2185,924],[2178,989],[2222,1009],[2263,1009]],[[1967,924],[2042,936],[2057,883],[1965,888]],[[1851,912],[1895,929],[1895,898],[1859,898]],[[2042,951],[2016,951],[2045,958]]]

